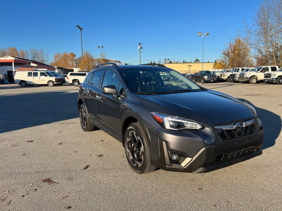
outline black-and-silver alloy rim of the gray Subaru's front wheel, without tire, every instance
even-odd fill
[[[134,167],[140,168],[144,161],[144,147],[140,136],[136,131],[130,131],[126,142],[127,153],[131,164]]]

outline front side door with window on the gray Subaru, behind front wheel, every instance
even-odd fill
[[[117,74],[110,69],[106,69],[102,82],[102,87],[108,85],[116,86],[117,93],[123,89]],[[116,134],[120,134],[120,106],[123,99],[115,99],[111,94],[104,94],[102,89],[97,91],[97,120]]]

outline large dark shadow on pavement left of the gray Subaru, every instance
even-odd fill
[[[0,133],[77,118],[77,98],[76,91],[0,96]]]

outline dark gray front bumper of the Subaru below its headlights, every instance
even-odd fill
[[[263,130],[259,131],[246,140],[241,138],[232,140],[231,144],[220,144],[221,139],[208,128],[201,131],[170,131],[157,126],[148,130],[151,163],[160,169],[177,172],[205,173],[220,169],[262,154]],[[243,150],[248,153],[240,154]],[[175,152],[181,156],[179,163],[173,163],[170,159]],[[218,161],[219,157],[226,154],[232,156],[232,153],[239,153],[239,156]]]

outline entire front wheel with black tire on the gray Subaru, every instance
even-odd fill
[[[127,127],[124,135],[124,149],[127,161],[136,173],[146,174],[157,169],[151,164],[149,144],[144,129],[139,123],[133,123]]]

